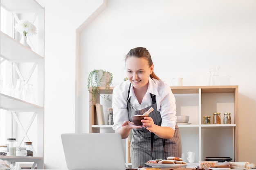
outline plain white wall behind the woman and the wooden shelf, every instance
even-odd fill
[[[238,161],[256,163],[256,1],[108,0],[89,24],[84,21],[102,1],[38,2],[46,12],[45,168],[65,168],[61,133],[88,130],[86,73],[106,69],[117,85],[126,77],[124,55],[137,46],[150,51],[155,73],[170,86],[174,77],[183,77],[184,86],[207,85],[207,72],[217,65],[220,75],[231,75],[231,85],[239,86]],[[83,68],[76,68],[76,52]],[[75,120],[77,104],[83,124]]]

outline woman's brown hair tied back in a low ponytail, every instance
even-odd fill
[[[152,66],[153,65],[153,61],[151,59],[151,55],[148,52],[148,50],[144,47],[137,47],[134,49],[131,49],[129,51],[129,53],[126,55],[125,57],[125,61],[128,57],[138,57],[138,58],[145,58],[148,61],[148,66]],[[151,78],[154,79],[160,79],[159,77],[157,77],[157,75],[155,75],[154,70],[152,71],[152,73],[150,74]]]

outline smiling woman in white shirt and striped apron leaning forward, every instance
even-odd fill
[[[116,86],[112,93],[113,129],[122,139],[132,130],[132,168],[145,167],[148,160],[181,157],[180,131],[171,88],[155,75],[146,48],[131,49],[125,61],[128,81]],[[132,116],[142,115],[150,107],[154,110],[141,120],[143,125],[134,125]]]

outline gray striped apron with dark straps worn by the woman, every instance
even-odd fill
[[[128,91],[128,96],[130,93],[130,87]],[[141,110],[135,110],[130,104],[130,98],[127,99],[127,110],[129,115],[129,120],[132,121],[132,116],[142,115],[150,107],[153,107],[154,110],[149,114],[149,117],[152,117],[154,123],[161,126],[161,115],[157,111],[157,104],[155,100],[155,95],[150,94],[152,98],[152,105],[148,106]],[[150,167],[145,165],[148,160],[155,159],[166,159],[167,157],[181,157],[181,139],[180,139],[180,130],[175,125],[175,133],[171,139],[162,139],[155,135],[154,133],[149,132],[146,128],[135,128],[132,129],[132,139],[130,142],[130,155],[132,168],[137,168],[139,166]]]

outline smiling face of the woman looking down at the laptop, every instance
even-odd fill
[[[128,57],[126,59],[127,78],[134,88],[148,85],[148,78],[153,68],[154,65],[148,66],[145,58]]]

